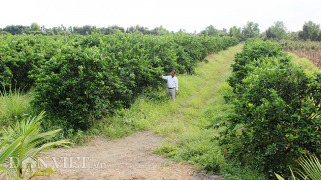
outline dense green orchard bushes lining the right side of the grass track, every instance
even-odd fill
[[[234,113],[220,138],[230,155],[265,172],[284,170],[304,153],[321,155],[321,73],[259,40],[235,55],[233,71]]]

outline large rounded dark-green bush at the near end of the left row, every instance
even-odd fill
[[[68,119],[68,126],[89,128],[90,114],[98,118],[121,107],[130,94],[116,75],[117,62],[101,56],[96,47],[65,46],[40,69],[34,104],[56,117]]]

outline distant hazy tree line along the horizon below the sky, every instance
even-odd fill
[[[248,38],[260,38],[263,40],[302,40],[302,41],[321,41],[321,29],[320,24],[314,23],[312,21],[307,21],[303,24],[302,31],[289,32],[283,21],[276,21],[271,25],[266,31],[260,33],[258,28],[259,24],[257,22],[248,21],[243,27],[233,26],[228,30],[227,28],[217,29],[213,25],[207,26],[200,33],[191,33],[198,36],[216,36],[216,37],[236,37],[239,41],[245,41]],[[0,28],[0,35],[21,35],[21,34],[40,34],[40,35],[91,35],[93,31],[100,31],[104,35],[113,34],[116,31],[121,31],[122,33],[142,33],[144,35],[168,35],[171,32],[168,31],[163,26],[155,27],[149,29],[141,25],[130,26],[127,28],[113,25],[108,27],[99,27],[84,25],[82,27],[69,26],[65,27],[63,24],[58,27],[46,28],[45,26],[40,26],[37,23],[32,23],[30,26],[24,25],[7,25],[4,28]],[[179,32],[186,33],[184,29],[180,29]]]

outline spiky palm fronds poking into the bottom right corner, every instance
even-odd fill
[[[321,165],[318,161],[317,157],[315,155],[308,155],[305,158],[301,157],[298,160],[298,163],[303,168],[303,171],[299,170],[297,173],[303,178],[303,179],[311,179],[311,180],[319,180],[321,179]],[[293,174],[292,169],[290,168],[292,178],[294,180],[298,179]],[[284,180],[283,177],[281,177],[279,174],[275,174],[279,180]]]

